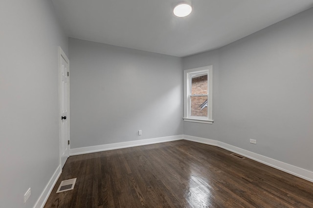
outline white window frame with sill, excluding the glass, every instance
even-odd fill
[[[197,123],[206,123],[206,124],[213,124],[212,118],[212,103],[213,103],[213,96],[212,96],[212,80],[213,80],[213,67],[211,66],[204,66],[194,69],[187,69],[184,70],[184,121],[189,122],[197,122]],[[197,75],[205,75],[207,74],[207,89],[208,94],[204,94],[203,96],[207,96],[207,116],[191,116],[191,77]]]

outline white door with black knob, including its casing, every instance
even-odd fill
[[[63,168],[69,156],[69,61],[59,47],[60,88],[60,157]]]

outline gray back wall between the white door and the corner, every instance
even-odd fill
[[[71,149],[182,134],[181,58],[75,38],[69,55]]]

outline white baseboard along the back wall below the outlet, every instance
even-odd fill
[[[150,145],[150,144],[156,144],[156,143],[162,143],[162,142],[170,142],[170,141],[181,140],[182,138],[183,138],[183,135],[175,135],[175,136],[165,136],[165,137],[159,137],[159,138],[153,138],[153,139],[143,139],[143,140],[135,140],[135,141],[129,141],[129,142],[119,142],[119,143],[106,144],[106,145],[75,148],[75,149],[69,150],[70,152],[69,155],[72,156],[72,155],[86,154],[86,153],[97,152],[97,151],[108,151],[108,150],[116,150],[116,149],[136,147],[136,146],[142,146],[142,145]]]

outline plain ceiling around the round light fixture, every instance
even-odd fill
[[[313,0],[52,0],[71,38],[185,57],[220,48],[313,6]]]

